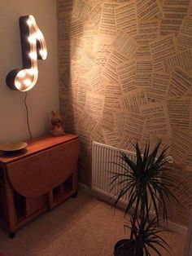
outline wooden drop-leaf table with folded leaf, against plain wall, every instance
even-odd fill
[[[76,196],[77,135],[46,135],[21,152],[0,153],[0,225],[10,236],[69,196]]]

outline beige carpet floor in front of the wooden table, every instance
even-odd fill
[[[110,205],[80,192],[22,227],[14,239],[0,229],[0,251],[6,256],[111,256],[116,241],[126,237],[123,225],[120,210],[114,214]],[[183,255],[185,236],[166,232],[164,238],[172,256]]]

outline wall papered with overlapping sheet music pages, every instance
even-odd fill
[[[190,0],[58,0],[59,99],[65,130],[81,138],[80,180],[91,143],[132,150],[162,138],[192,203],[192,7]]]

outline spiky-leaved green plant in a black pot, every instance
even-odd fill
[[[116,243],[115,256],[151,255],[151,249],[155,254],[161,255],[159,246],[168,250],[168,244],[159,236],[162,232],[159,229],[159,207],[162,208],[165,221],[168,220],[166,199],[179,202],[171,190],[172,187],[177,188],[177,180],[168,174],[168,148],[160,150],[160,144],[161,141],[151,152],[150,144],[146,144],[142,154],[136,143],[136,161],[120,151],[121,163],[113,162],[122,169],[122,172],[113,173],[111,176],[111,190],[116,186],[119,188],[114,207],[116,208],[120,199],[128,193],[129,201],[124,216],[129,213],[131,223],[130,226],[125,225],[130,228],[130,237]],[[154,216],[151,216],[152,209]]]

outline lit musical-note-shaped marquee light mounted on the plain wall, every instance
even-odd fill
[[[7,74],[6,82],[13,90],[28,91],[38,78],[37,60],[46,60],[46,41],[33,15],[20,17],[20,39],[23,68]]]

